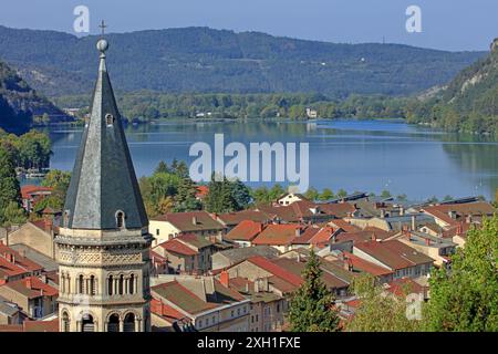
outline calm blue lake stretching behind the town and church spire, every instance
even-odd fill
[[[498,142],[398,121],[170,122],[125,131],[138,177],[151,175],[162,159],[193,162],[191,144],[212,146],[214,134],[224,133],[225,144],[309,143],[310,185],[318,189],[387,189],[423,200],[446,195],[492,198],[498,188]],[[54,153],[51,168],[71,170],[82,131],[53,126],[48,133]]]

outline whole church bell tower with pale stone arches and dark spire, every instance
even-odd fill
[[[146,332],[152,236],[106,69],[108,43],[96,46],[90,119],[55,239],[60,331]]]

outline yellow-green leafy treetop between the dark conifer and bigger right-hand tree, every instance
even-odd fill
[[[401,295],[386,294],[371,274],[353,280],[353,291],[360,300],[353,319],[346,324],[349,332],[412,332],[419,329],[419,321],[406,316],[405,291]]]

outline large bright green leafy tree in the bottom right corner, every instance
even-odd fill
[[[498,331],[498,216],[467,232],[450,270],[434,269],[424,308],[428,331]]]

